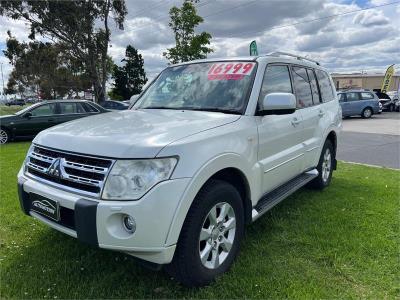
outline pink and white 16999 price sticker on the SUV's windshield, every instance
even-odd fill
[[[249,76],[255,65],[254,62],[215,63],[208,70],[208,80],[240,80]]]

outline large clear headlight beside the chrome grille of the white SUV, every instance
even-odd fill
[[[118,160],[106,180],[103,199],[134,200],[157,183],[171,177],[174,157],[146,160]]]

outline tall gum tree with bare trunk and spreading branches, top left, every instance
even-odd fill
[[[31,39],[47,37],[84,65],[98,102],[105,99],[111,71],[109,19],[122,30],[126,14],[124,0],[0,1],[0,15],[27,22]]]

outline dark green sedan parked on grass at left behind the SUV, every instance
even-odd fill
[[[0,144],[19,138],[32,138],[51,126],[103,112],[108,110],[82,100],[33,104],[13,115],[0,117]]]

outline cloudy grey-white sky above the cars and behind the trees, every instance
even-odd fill
[[[182,0],[126,0],[125,30],[113,27],[110,54],[119,62],[128,44],[144,56],[149,78],[167,64],[162,53],[173,46],[168,11]],[[370,10],[348,13],[377,5]],[[256,40],[260,53],[294,52],[317,59],[332,72],[384,72],[400,69],[400,1],[396,0],[201,0],[196,4],[204,23],[198,31],[213,36],[211,57],[248,55]],[[328,16],[338,15],[334,18]],[[319,19],[317,21],[311,21]],[[299,24],[300,23],[300,24]],[[0,49],[11,30],[26,40],[23,22],[0,18]],[[0,53],[5,81],[11,70]],[[399,71],[398,71],[399,72]]]

